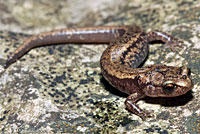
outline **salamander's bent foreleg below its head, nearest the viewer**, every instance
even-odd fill
[[[130,112],[132,112],[132,113],[138,115],[139,117],[141,117],[142,120],[145,120],[146,117],[152,117],[152,116],[150,115],[150,112],[147,112],[147,111],[144,111],[144,110],[140,109],[140,108],[138,107],[138,105],[136,104],[136,102],[137,102],[139,99],[142,99],[142,98],[144,98],[144,97],[145,97],[145,95],[144,95],[143,93],[136,92],[136,93],[133,93],[133,94],[129,95],[129,96],[127,97],[126,101],[125,101],[126,108],[127,108]]]

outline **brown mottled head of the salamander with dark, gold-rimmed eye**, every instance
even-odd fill
[[[145,73],[146,81],[141,88],[145,95],[150,97],[175,97],[192,89],[190,69],[187,67],[160,65],[151,67],[153,69]]]

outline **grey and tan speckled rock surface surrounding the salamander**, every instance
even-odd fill
[[[199,133],[200,2],[195,0],[0,1],[0,130],[2,133]],[[7,57],[33,34],[95,25],[139,25],[184,39],[176,52],[150,47],[145,65],[186,65],[192,92],[145,99],[154,110],[142,121],[127,112],[125,97],[102,78],[106,45],[56,45],[31,50],[6,71]]]

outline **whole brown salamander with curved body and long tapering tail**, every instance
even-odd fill
[[[144,32],[136,26],[99,26],[67,28],[40,33],[28,38],[6,61],[4,68],[30,49],[58,43],[110,43],[100,60],[105,79],[120,91],[128,94],[126,108],[142,119],[150,116],[136,102],[145,96],[175,97],[193,87],[187,67],[150,65],[137,68],[146,58],[149,42],[160,40],[174,48],[180,43],[176,38],[160,32]]]

